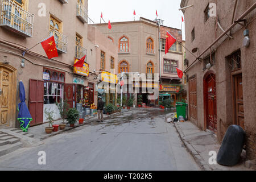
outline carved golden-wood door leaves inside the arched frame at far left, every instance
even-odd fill
[[[10,104],[13,104],[10,102],[13,98],[12,76],[11,71],[0,67],[0,126],[9,126],[10,124]]]

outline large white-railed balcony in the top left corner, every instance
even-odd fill
[[[0,26],[14,31],[25,38],[31,38],[34,15],[28,13],[11,0],[2,0],[0,5]]]

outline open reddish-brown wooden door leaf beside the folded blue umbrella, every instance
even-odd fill
[[[30,79],[28,107],[33,119],[30,125],[43,123],[44,81]]]

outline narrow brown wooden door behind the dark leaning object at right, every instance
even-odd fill
[[[245,115],[243,112],[243,82],[242,74],[234,76],[235,124],[245,130]]]

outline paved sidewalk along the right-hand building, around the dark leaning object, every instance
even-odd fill
[[[228,167],[220,164],[209,164],[209,152],[220,149],[220,143],[217,142],[216,135],[210,132],[200,130],[196,125],[190,121],[174,122],[177,133],[184,145],[187,147],[189,153],[193,156],[195,161],[199,164],[201,169],[205,171],[250,171],[251,169],[245,167],[245,150],[242,151],[241,159],[236,166]],[[212,156],[212,155],[211,155]]]

